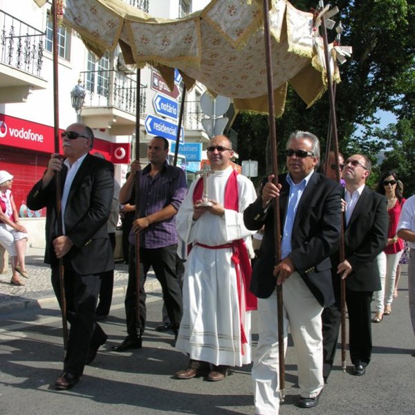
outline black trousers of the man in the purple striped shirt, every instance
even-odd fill
[[[129,276],[127,293],[125,295],[125,315],[127,320],[127,333],[130,337],[137,337],[145,329],[146,293],[145,279],[150,266],[160,282],[163,291],[167,315],[172,322],[173,331],[177,332],[183,314],[182,293],[176,274],[177,245],[163,248],[140,248],[140,289],[139,289],[139,321],[136,317],[136,255],[135,246],[130,247]]]

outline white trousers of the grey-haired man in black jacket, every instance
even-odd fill
[[[290,324],[297,353],[298,384],[303,398],[314,398],[323,389],[322,306],[302,277],[293,273],[283,285],[284,349]],[[279,357],[277,293],[258,299],[259,341],[254,354],[255,414],[275,415],[279,410]]]

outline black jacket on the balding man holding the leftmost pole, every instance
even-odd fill
[[[64,190],[66,166],[62,169],[61,190]],[[114,268],[107,219],[113,198],[113,165],[107,160],[87,154],[80,165],[68,194],[64,225],[73,247],[64,257],[80,275],[102,273]],[[62,196],[62,195],[61,195]],[[53,239],[57,237],[55,178],[42,190],[42,180],[30,190],[28,208],[46,207],[45,262],[57,266]]]

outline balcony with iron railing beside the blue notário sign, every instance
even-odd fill
[[[89,118],[89,126],[113,126],[120,131],[128,131],[127,134],[132,133],[132,127],[136,124],[136,80],[114,69],[84,71],[80,73],[80,80],[86,90],[82,117]],[[140,118],[146,116],[146,89],[147,86],[140,85]],[[123,135],[124,132],[120,131],[113,129],[112,133]]]

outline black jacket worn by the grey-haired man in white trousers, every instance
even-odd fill
[[[281,230],[284,229],[290,185],[286,174],[278,178]],[[295,215],[289,255],[299,275],[322,306],[334,302],[330,255],[338,250],[342,187],[335,181],[314,172],[302,194]],[[246,228],[257,230],[265,224],[259,258],[252,270],[251,291],[259,298],[268,298],[277,279],[273,276],[275,261],[274,212],[262,209],[261,196],[243,213]]]

